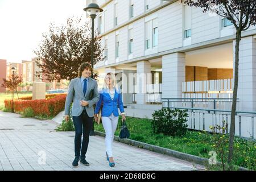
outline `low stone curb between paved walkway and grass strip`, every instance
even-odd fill
[[[105,137],[105,133],[100,132],[100,131],[94,131],[94,133],[100,137]],[[147,144],[147,143],[143,143],[143,142],[138,142],[136,140],[131,140],[131,139],[120,139],[117,136],[114,136],[114,140],[121,142],[121,143],[125,143],[125,144],[129,144],[131,146],[135,146],[138,148],[143,148],[146,150],[150,150],[152,152],[156,152],[159,154],[164,154],[164,155],[168,155],[168,156],[173,156],[175,158],[178,159],[182,159],[182,160],[186,160],[188,162],[193,162],[196,164],[200,164],[203,166],[207,166],[209,159],[206,158],[200,158],[199,156],[195,156],[195,155],[191,155],[191,154],[185,154],[183,152],[178,152],[175,150],[171,150],[168,148],[163,148],[163,147],[158,147],[158,146],[154,146],[152,144]],[[247,168],[243,168],[243,167],[238,167],[239,171],[248,171],[249,169]]]

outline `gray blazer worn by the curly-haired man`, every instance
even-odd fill
[[[88,105],[85,106],[86,112],[89,117],[93,117],[94,109],[93,105],[100,99],[100,94],[98,93],[97,81],[89,77],[88,85],[86,88],[86,93],[82,91],[82,83],[79,77],[74,78],[70,81],[68,86],[68,94],[65,101],[65,115],[69,115],[70,105],[72,106],[72,116],[79,116],[82,114],[84,106],[81,106],[80,101],[88,101]]]

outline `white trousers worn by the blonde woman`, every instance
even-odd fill
[[[109,117],[102,117],[102,125],[105,130],[106,138],[106,152],[109,158],[113,157],[112,145],[114,140],[115,130],[117,129],[118,116],[114,116],[113,113]]]

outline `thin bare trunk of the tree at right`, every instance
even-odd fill
[[[234,132],[235,132],[235,119],[236,119],[236,107],[237,107],[237,89],[238,89],[238,66],[239,66],[239,46],[241,41],[242,31],[237,30],[236,34],[236,52],[235,52],[235,72],[234,72],[234,89],[233,89],[233,101],[231,111],[231,123],[229,131],[229,156],[228,164],[232,163],[233,150],[234,150]]]

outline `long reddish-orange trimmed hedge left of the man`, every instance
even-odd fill
[[[46,99],[32,100],[31,97],[21,97],[14,100],[14,112],[22,113],[28,107],[31,107],[35,115],[45,115],[53,117],[63,111],[65,108],[65,99],[67,94],[46,94]],[[5,100],[6,109],[11,110],[12,100]]]

